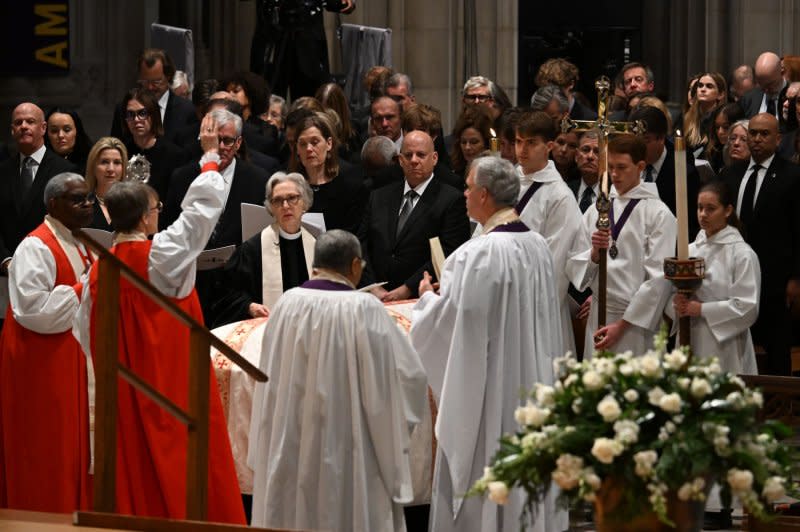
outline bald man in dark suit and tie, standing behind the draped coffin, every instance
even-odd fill
[[[423,272],[433,273],[429,239],[438,236],[449,254],[469,238],[463,192],[434,179],[437,159],[430,135],[409,132],[400,151],[405,179],[370,196],[359,235],[362,283],[387,281],[373,291],[384,301],[415,297]]]

